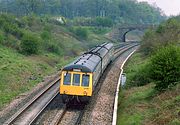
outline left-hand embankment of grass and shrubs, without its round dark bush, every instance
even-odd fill
[[[82,38],[84,30],[78,34],[77,27],[69,28],[46,18],[0,16],[0,109],[45,76],[59,71],[89,46],[106,41],[105,32],[97,34],[93,27],[85,27],[86,36]],[[39,48],[37,53],[27,55],[21,43],[29,35],[28,39],[38,40]]]

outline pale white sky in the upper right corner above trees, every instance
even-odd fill
[[[150,4],[156,4],[167,16],[176,16],[180,14],[180,0],[137,0],[147,1]]]

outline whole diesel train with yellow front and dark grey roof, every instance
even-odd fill
[[[84,53],[61,73],[60,94],[63,102],[88,102],[107,65],[113,59],[113,44],[104,43]]]

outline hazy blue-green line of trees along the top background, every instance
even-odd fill
[[[136,0],[0,0],[0,12],[70,19],[108,17],[115,23],[131,24],[157,24],[165,18],[158,7]]]

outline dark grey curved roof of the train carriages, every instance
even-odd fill
[[[100,63],[101,59],[104,58],[104,56],[112,47],[112,43],[104,43],[102,45],[98,45],[81,55],[74,62],[65,66],[63,70],[81,70],[81,72],[93,72],[96,66]]]

